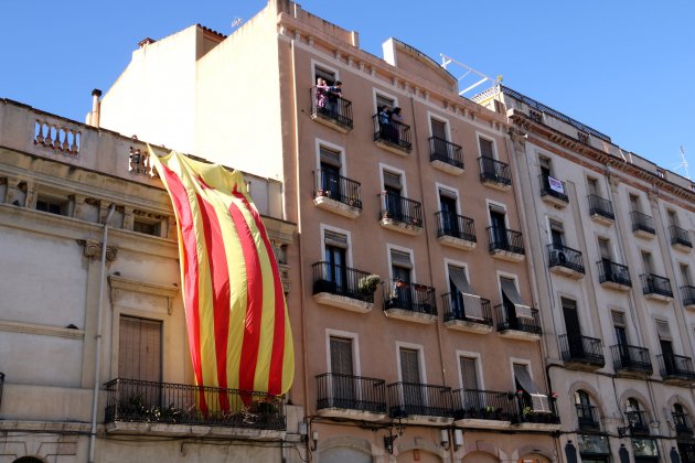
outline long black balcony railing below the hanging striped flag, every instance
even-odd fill
[[[114,379],[104,385],[107,423],[115,421],[286,429],[280,396],[170,383]]]

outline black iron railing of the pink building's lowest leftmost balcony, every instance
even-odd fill
[[[319,410],[346,410],[386,413],[386,381],[354,375],[324,373],[317,375]]]

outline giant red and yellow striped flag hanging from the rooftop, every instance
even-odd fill
[[[295,376],[287,304],[270,240],[242,174],[175,151],[159,159],[150,149],[150,160],[177,215],[196,384],[287,392]],[[223,396],[218,405],[228,410]]]

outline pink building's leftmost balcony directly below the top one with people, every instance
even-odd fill
[[[360,182],[319,169],[313,171],[313,204],[348,218],[362,213]]]

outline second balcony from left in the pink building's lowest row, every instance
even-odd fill
[[[413,424],[450,424],[451,388],[417,383],[393,383],[388,390],[388,416]]]

